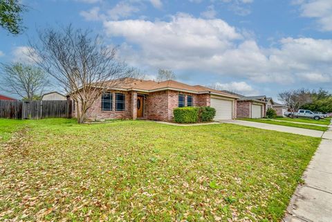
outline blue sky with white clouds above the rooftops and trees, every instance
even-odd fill
[[[277,98],[293,88],[332,93],[331,0],[39,0],[23,3],[22,35],[0,29],[0,62],[29,62],[36,30],[72,23],[119,46],[154,79],[172,69],[188,84]]]

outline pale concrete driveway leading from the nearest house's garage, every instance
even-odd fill
[[[274,130],[284,133],[295,133],[303,136],[313,136],[313,137],[322,137],[323,131],[319,130],[313,130],[313,129],[302,129],[302,128],[296,128],[296,127],[286,127],[286,126],[279,126],[274,124],[267,124],[267,123],[261,123],[261,122],[250,122],[245,120],[222,120],[221,122],[225,123],[231,123],[231,124],[238,124],[241,126],[246,127],[255,127],[259,129],[268,129],[268,130]]]

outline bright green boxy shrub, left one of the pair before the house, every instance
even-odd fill
[[[179,123],[194,123],[199,121],[199,108],[181,107],[173,111],[174,121]]]

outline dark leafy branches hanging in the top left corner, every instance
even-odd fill
[[[0,26],[14,35],[24,30],[21,12],[26,9],[19,2],[19,0],[0,0]]]

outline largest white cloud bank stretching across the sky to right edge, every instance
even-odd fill
[[[124,37],[120,53],[128,62],[145,68],[284,84],[310,82],[304,73],[324,76],[332,69],[332,40],[285,38],[261,48],[221,19],[178,14],[170,21],[104,21],[104,28],[109,37]]]

